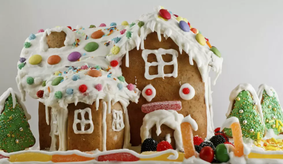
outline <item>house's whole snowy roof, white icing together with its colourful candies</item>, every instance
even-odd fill
[[[223,58],[219,51],[211,47],[208,39],[192,28],[185,18],[157,7],[155,12],[145,14],[131,24],[122,24],[77,26],[75,29],[55,27],[31,34],[21,52],[16,77],[23,100],[27,92],[43,103],[58,102],[63,108],[68,103],[92,103],[97,99],[121,101],[125,105],[129,101],[137,102],[140,91],[133,84],[127,87],[119,66],[125,55],[128,66],[128,52],[134,48],[144,49],[144,40],[152,32],[158,34],[159,40],[162,34],[165,38],[170,37],[180,52],[184,50],[189,54],[188,62],[191,65],[193,61],[197,63],[204,82],[208,80],[210,69],[217,72],[217,77],[221,73]],[[66,33],[65,46],[48,48],[47,35],[62,31]],[[86,75],[93,69],[102,76]],[[79,76],[79,80],[73,80],[74,75]],[[96,89],[97,84],[102,85],[102,91]],[[86,85],[85,92],[80,91],[81,85]],[[69,93],[73,89],[72,94],[68,94],[67,89]]]

